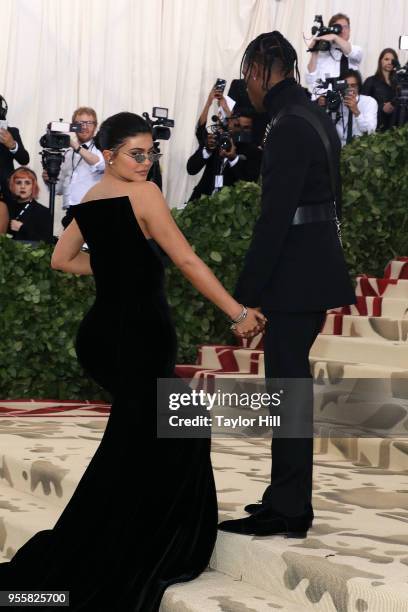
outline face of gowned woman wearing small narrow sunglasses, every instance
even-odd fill
[[[135,155],[154,153],[151,134],[138,134],[127,138],[115,151],[105,150],[103,155],[107,162],[107,171],[123,181],[140,183],[147,179],[152,167],[151,161],[145,157],[144,161],[135,159]]]

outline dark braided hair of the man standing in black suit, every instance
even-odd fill
[[[263,66],[262,86],[267,89],[272,69],[278,68],[285,77],[295,75],[300,82],[298,59],[290,42],[277,30],[260,34],[245,49],[241,61],[241,74],[250,73],[254,63]]]

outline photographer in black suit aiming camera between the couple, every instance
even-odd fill
[[[226,128],[219,123],[215,133],[205,132],[204,141],[187,162],[189,174],[205,168],[189,202],[238,181],[258,180],[262,152],[251,142],[252,122],[252,111],[242,109],[228,118]]]

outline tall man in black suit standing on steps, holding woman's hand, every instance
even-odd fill
[[[252,41],[244,55],[243,71],[252,104],[259,112],[266,109],[271,122],[263,153],[261,214],[236,298],[260,307],[268,319],[266,378],[306,381],[306,392],[298,396],[294,407],[300,420],[311,423],[310,348],[326,310],[355,302],[336,223],[340,215],[341,147],[330,119],[293,78],[296,72],[299,80],[296,51],[279,32],[262,34]],[[297,116],[288,114],[290,105],[292,110],[296,105]],[[313,114],[329,140],[336,197],[325,145],[310,121],[299,114],[300,107],[309,116]],[[293,418],[293,413],[290,415]],[[285,435],[274,437],[271,484],[262,503],[249,504],[245,509],[251,516],[224,521],[220,529],[306,536],[314,516],[313,438],[311,432],[308,437]]]

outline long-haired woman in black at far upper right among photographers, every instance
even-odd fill
[[[376,73],[364,81],[361,92],[371,96],[378,104],[377,129],[381,132],[392,127],[392,119],[395,111],[393,100],[396,96],[396,83],[393,79],[395,66],[398,65],[398,55],[394,49],[383,49],[378,58]]]

